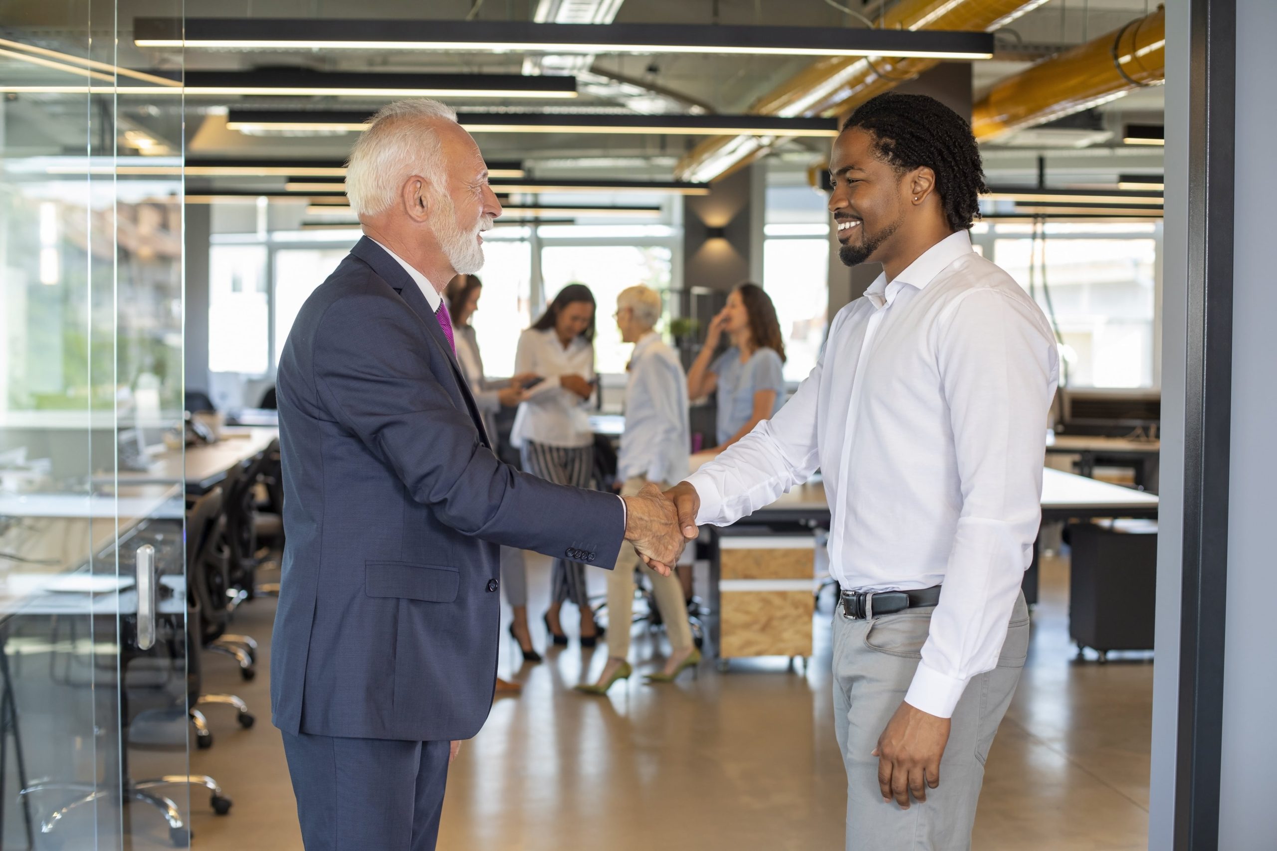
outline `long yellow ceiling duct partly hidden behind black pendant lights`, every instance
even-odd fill
[[[1005,27],[1046,0],[902,0],[879,22],[882,29],[982,29]],[[787,117],[838,115],[935,68],[922,57],[830,57],[813,63],[753,102],[753,115]],[[788,137],[714,137],[676,167],[679,180],[715,180],[744,166]]]

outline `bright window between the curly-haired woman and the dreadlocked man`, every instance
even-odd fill
[[[787,381],[807,378],[825,342],[829,251],[826,239],[770,239],[762,244],[762,288],[780,320]]]

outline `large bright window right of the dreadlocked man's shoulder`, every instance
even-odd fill
[[[1034,242],[1010,233],[1008,226],[996,228],[994,262],[1054,319],[1069,385],[1153,387],[1156,239],[1052,233],[1048,227],[1046,241]]]

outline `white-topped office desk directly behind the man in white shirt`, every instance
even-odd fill
[[[709,461],[713,455],[701,453],[692,455],[692,468]],[[1042,519],[1094,519],[1099,517],[1156,518],[1157,496],[1144,491],[1120,487],[1107,482],[1085,478],[1060,470],[1045,468],[1042,472]],[[830,510],[825,499],[825,485],[820,477],[792,489],[766,508],[750,517],[737,521],[728,535],[748,535],[755,538],[764,536],[813,535],[816,529],[829,529]],[[720,647],[722,623],[722,538],[723,532],[710,527],[710,638],[716,653]],[[761,545],[760,545],[761,546]],[[1024,573],[1024,597],[1031,603],[1037,602],[1038,589],[1038,545],[1034,544],[1033,561]],[[812,584],[815,572],[812,572]],[[797,587],[797,586],[794,586]],[[775,586],[780,593],[793,588]]]

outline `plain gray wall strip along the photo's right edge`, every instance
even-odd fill
[[[1228,614],[1223,669],[1220,847],[1277,847],[1277,653],[1273,652],[1272,509],[1277,504],[1277,381],[1272,195],[1277,189],[1277,4],[1237,0],[1236,217],[1234,219],[1232,447],[1228,471]],[[1268,105],[1264,107],[1263,105]]]

